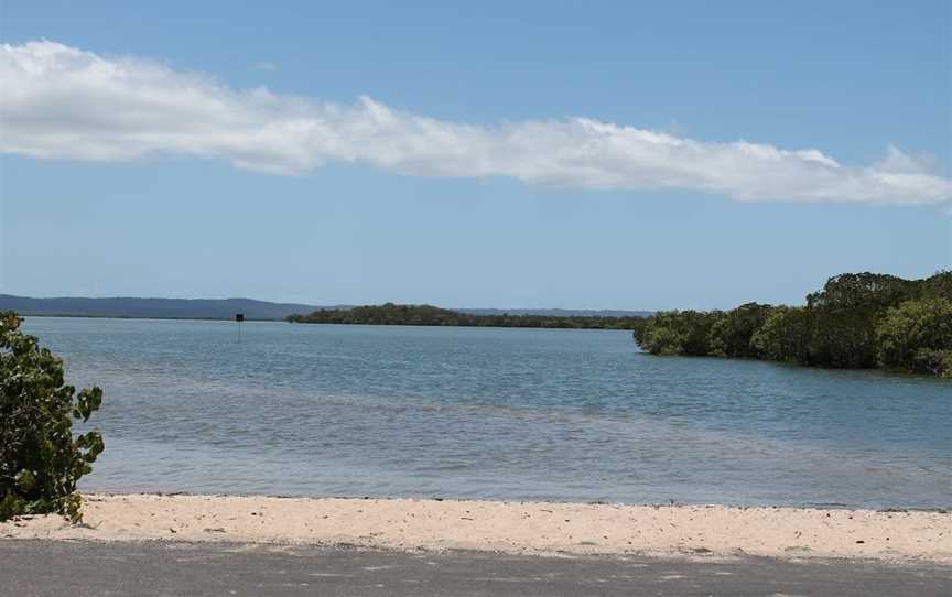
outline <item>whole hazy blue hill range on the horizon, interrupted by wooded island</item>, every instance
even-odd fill
[[[248,319],[280,321],[289,315],[320,310],[348,311],[354,305],[304,305],[270,303],[253,298],[109,298],[55,297],[32,298],[0,294],[0,311],[20,315],[64,317],[129,317],[156,319],[230,319],[244,313]],[[646,317],[650,311],[595,311],[566,308],[458,308],[472,315],[536,315],[542,317]]]

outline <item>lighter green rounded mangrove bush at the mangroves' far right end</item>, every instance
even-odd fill
[[[952,377],[952,301],[907,301],[889,310],[876,336],[884,368]]]

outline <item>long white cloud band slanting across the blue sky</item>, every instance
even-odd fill
[[[742,200],[939,204],[952,183],[889,148],[868,166],[815,149],[711,143],[587,118],[495,126],[235,90],[215,79],[53,42],[0,46],[0,150],[129,160],[171,153],[301,174],[331,161],[410,176],[511,176],[572,188],[688,189]]]

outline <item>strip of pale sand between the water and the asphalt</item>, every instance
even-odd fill
[[[90,495],[82,525],[28,517],[0,538],[952,563],[952,514],[723,506]]]

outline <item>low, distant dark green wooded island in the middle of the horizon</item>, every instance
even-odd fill
[[[304,324],[426,325],[473,327],[555,327],[586,329],[634,329],[641,317],[589,317],[548,315],[475,315],[432,305],[368,305],[348,310],[320,310],[309,315],[290,315],[289,322]]]

